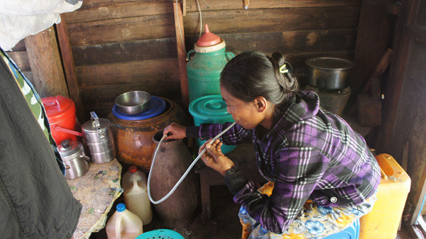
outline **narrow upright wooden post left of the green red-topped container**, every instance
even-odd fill
[[[186,70],[185,34],[183,32],[183,16],[182,7],[180,3],[173,2],[173,12],[175,14],[176,45],[178,48],[180,93],[182,94],[182,106],[187,108],[190,103]]]

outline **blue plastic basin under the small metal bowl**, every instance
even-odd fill
[[[119,109],[117,109],[117,105],[114,104],[114,106],[112,106],[112,114],[114,114],[114,116],[117,118],[121,118],[127,121],[141,121],[164,113],[166,106],[167,105],[165,104],[164,99],[161,99],[158,96],[151,96],[151,100],[146,111],[130,115],[122,113]]]

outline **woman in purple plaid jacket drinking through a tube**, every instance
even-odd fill
[[[299,91],[289,68],[280,53],[244,52],[229,61],[220,89],[236,125],[200,147],[207,148],[204,163],[224,175],[241,204],[249,238],[321,238],[349,226],[376,201],[380,169],[364,139],[320,109],[317,94]],[[229,124],[173,123],[164,133],[208,140]],[[259,190],[220,150],[222,142],[245,140],[253,142],[259,172],[271,182]]]

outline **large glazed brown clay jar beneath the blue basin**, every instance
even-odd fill
[[[117,118],[113,113],[108,116],[114,135],[116,159],[128,165],[136,165],[146,174],[151,168],[151,157],[155,150],[153,135],[170,123],[187,126],[189,122],[182,107],[174,101],[162,99],[165,100],[167,108],[164,113],[153,118],[130,121]]]

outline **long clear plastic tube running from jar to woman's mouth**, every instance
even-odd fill
[[[216,137],[214,137],[211,141],[213,142],[214,140],[217,140],[220,136],[222,136],[226,131],[228,131],[230,128],[232,128],[232,126],[235,125],[236,122],[231,123],[230,126],[228,126],[228,128],[225,128],[225,130],[223,130],[221,133],[219,133],[218,135],[216,135]],[[163,143],[163,140],[165,140],[165,138],[167,138],[167,135],[163,135],[163,137],[161,138],[160,142],[158,142],[157,148],[155,148],[155,152],[154,152],[154,157],[153,157],[153,162],[151,162],[151,169],[150,172],[148,174],[148,197],[149,200],[153,203],[153,204],[160,204],[163,201],[165,201],[165,199],[168,199],[168,197],[170,195],[173,194],[173,192],[175,192],[175,190],[179,187],[180,183],[182,183],[183,179],[185,179],[185,177],[187,176],[188,173],[190,173],[190,170],[192,169],[192,167],[194,167],[195,163],[197,163],[198,160],[200,160],[201,155],[206,151],[206,149],[204,148],[204,150],[202,150],[200,152],[200,154],[195,158],[194,162],[192,162],[192,164],[190,165],[190,167],[188,167],[188,169],[185,171],[185,173],[182,175],[182,177],[180,177],[179,181],[175,184],[175,186],[173,187],[173,189],[171,189],[169,191],[168,194],[166,194],[163,199],[160,199],[158,201],[154,201],[151,197],[151,189],[150,189],[150,184],[151,184],[151,170],[154,167],[154,162],[155,162],[155,157],[157,156],[157,152],[158,152],[158,148],[160,148],[161,143]]]

